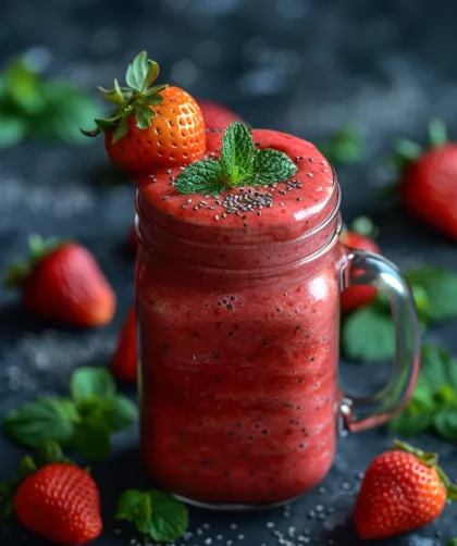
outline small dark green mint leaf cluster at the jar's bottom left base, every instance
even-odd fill
[[[133,523],[144,535],[159,543],[180,538],[187,530],[187,508],[158,489],[128,489],[118,502],[116,518]]]

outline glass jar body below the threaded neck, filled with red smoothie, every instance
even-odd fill
[[[238,270],[183,262],[140,241],[143,457],[158,485],[197,504],[286,501],[333,461],[337,235],[293,265],[275,266],[279,244],[268,245],[259,262],[271,255],[271,268]]]

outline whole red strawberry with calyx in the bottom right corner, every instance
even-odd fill
[[[457,486],[436,466],[435,454],[400,442],[395,448],[376,457],[366,472],[354,511],[361,538],[419,529],[441,514],[446,499],[457,499]]]

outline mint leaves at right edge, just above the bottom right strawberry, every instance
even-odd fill
[[[406,408],[390,423],[397,434],[432,431],[457,442],[457,360],[440,347],[422,348],[418,382]]]

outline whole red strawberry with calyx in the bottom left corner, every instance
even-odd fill
[[[63,459],[57,445],[40,450],[40,468],[25,457],[20,477],[3,484],[3,511],[37,535],[63,545],[83,545],[102,529],[100,496],[88,472]]]

